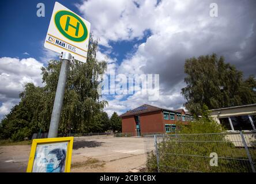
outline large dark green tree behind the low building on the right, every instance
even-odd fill
[[[203,105],[209,109],[253,104],[256,102],[256,80],[250,76],[243,80],[242,71],[224,62],[224,57],[216,54],[187,59],[185,62],[182,89],[186,99],[185,106],[191,113],[198,115]]]

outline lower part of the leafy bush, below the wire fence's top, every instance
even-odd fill
[[[191,141],[193,140],[193,141]],[[205,140],[205,141],[203,141]],[[207,140],[207,141],[206,141]],[[250,164],[245,160],[244,149],[225,140],[225,135],[174,135],[163,138],[158,144],[161,172],[248,172]],[[218,155],[218,167],[210,166],[210,153]],[[194,156],[191,156],[194,155]],[[236,158],[222,159],[222,158]],[[157,171],[156,155],[148,155],[148,171]]]

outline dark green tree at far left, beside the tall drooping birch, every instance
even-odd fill
[[[25,90],[20,94],[21,101],[10,110],[0,124],[2,139],[31,138],[32,133],[39,131],[42,125],[43,88],[36,87],[32,83],[27,83],[24,88]]]

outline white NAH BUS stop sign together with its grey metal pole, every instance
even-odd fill
[[[60,3],[55,2],[44,47],[61,53],[62,64],[51,114],[48,138],[58,136],[59,118],[61,117],[69,62],[72,59],[86,62],[90,28],[91,24],[84,20],[84,18]]]

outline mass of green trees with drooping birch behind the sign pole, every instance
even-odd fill
[[[97,45],[97,40],[93,40],[91,36],[87,62],[70,62],[59,133],[66,135],[71,129],[75,132],[92,132],[95,128],[95,116],[107,105],[107,101],[100,100],[97,93],[97,86],[107,70],[106,61],[96,59]],[[2,120],[2,138],[6,139],[18,133],[14,137],[21,139],[20,135],[31,136],[40,129],[42,132],[48,131],[60,69],[61,62],[51,60],[47,67],[42,67],[44,87],[36,87],[32,83],[25,85],[20,94],[20,103]],[[23,128],[25,131],[22,131]]]

